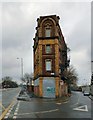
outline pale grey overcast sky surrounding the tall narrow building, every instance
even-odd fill
[[[46,0],[47,1],[47,0]],[[70,51],[70,65],[78,74],[78,84],[90,83],[91,3],[90,2],[5,2],[2,5],[2,77],[19,81],[20,60],[24,73],[33,72],[33,38],[37,18],[57,15]]]

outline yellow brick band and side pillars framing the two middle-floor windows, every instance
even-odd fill
[[[58,40],[55,39],[55,40],[39,40],[39,43],[38,43],[38,47],[35,51],[35,60],[34,60],[34,64],[36,65],[36,61],[37,59],[39,59],[39,64],[36,65],[35,67],[35,70],[34,70],[34,77],[38,74],[38,75],[41,75],[42,74],[42,45],[46,45],[46,44],[56,44],[55,45],[55,54],[56,54],[56,60],[55,60],[55,63],[56,63],[56,70],[58,70]]]

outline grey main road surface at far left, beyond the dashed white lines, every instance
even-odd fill
[[[9,107],[16,101],[19,91],[20,88],[8,88],[0,90],[0,115],[8,110]]]

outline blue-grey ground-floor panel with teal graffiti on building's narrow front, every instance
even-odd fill
[[[53,77],[44,77],[43,97],[55,98],[55,79]]]

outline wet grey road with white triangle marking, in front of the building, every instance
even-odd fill
[[[93,113],[92,113],[93,114]],[[32,98],[16,101],[6,118],[91,118],[91,99],[72,92],[66,100]]]

